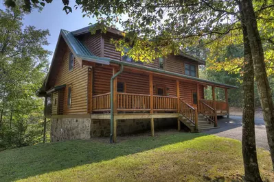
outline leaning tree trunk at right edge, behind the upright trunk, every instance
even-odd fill
[[[264,51],[255,19],[255,13],[251,0],[242,0],[242,10],[245,17],[245,25],[252,53],[255,79],[260,95],[260,103],[266,125],[267,139],[271,151],[272,165],[274,169],[274,105],[269,86],[269,79],[266,75],[266,66],[264,63]]]

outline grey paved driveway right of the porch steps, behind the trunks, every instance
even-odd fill
[[[242,116],[218,118],[218,126],[220,128],[203,131],[203,133],[242,140]],[[266,127],[262,118],[255,118],[255,138],[257,146],[269,150],[266,138]]]

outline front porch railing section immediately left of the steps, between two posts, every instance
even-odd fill
[[[177,97],[153,96],[153,110],[155,111],[175,111],[177,109]]]

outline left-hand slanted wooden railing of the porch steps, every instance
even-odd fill
[[[195,125],[195,129],[198,129],[198,112],[197,109],[180,100],[180,113]]]

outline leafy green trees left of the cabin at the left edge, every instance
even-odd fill
[[[0,150],[40,142],[48,30],[23,27],[18,7],[0,10]]]

